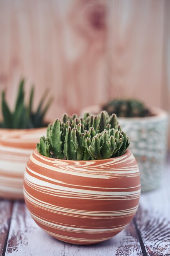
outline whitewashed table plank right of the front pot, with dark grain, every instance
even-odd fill
[[[149,256],[170,255],[170,158],[163,186],[141,195],[135,216],[137,229]]]

